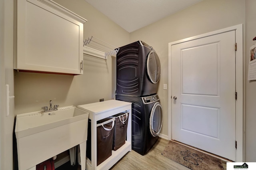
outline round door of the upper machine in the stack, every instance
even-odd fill
[[[160,60],[156,52],[150,51],[147,57],[147,74],[150,81],[156,84],[160,79]]]

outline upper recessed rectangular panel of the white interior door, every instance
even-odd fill
[[[218,95],[218,46],[212,43],[181,50],[182,94]]]

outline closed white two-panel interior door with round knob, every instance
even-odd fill
[[[236,160],[236,32],[171,47],[172,139]]]

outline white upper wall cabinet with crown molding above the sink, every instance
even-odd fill
[[[52,0],[16,0],[14,69],[83,74],[86,20]]]

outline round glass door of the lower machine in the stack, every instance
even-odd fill
[[[150,113],[150,133],[152,136],[158,136],[162,128],[163,117],[162,117],[162,106],[159,102],[156,102]]]

